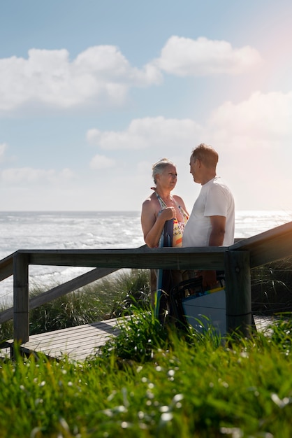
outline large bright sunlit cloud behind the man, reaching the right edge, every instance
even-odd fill
[[[291,209],[291,118],[292,92],[256,92],[212,113],[205,131],[238,209]]]

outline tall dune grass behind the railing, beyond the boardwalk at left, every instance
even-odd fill
[[[30,334],[116,318],[122,313],[129,313],[133,304],[143,309],[149,303],[149,290],[147,269],[112,274],[31,310]],[[30,298],[42,292],[45,288],[35,287],[30,292]],[[13,323],[10,320],[0,326],[0,341],[12,337]]]

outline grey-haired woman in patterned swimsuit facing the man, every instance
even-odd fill
[[[175,164],[166,158],[159,160],[152,166],[152,177],[156,187],[152,188],[154,192],[143,202],[141,213],[145,243],[149,248],[166,246],[167,233],[167,246],[182,246],[182,233],[189,213],[182,198],[171,195],[177,183]],[[164,279],[163,291],[167,294],[173,285],[182,281],[182,273],[181,271],[164,272],[167,272],[167,279]],[[152,304],[154,304],[155,292],[159,289],[159,285],[156,284],[156,271],[152,270],[151,274]],[[161,299],[163,301],[163,298]],[[166,302],[161,302],[160,307],[166,307]]]

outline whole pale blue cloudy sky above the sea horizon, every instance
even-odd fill
[[[0,211],[191,211],[199,143],[237,210],[292,211],[291,0],[0,3]]]

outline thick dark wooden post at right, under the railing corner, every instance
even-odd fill
[[[226,327],[249,337],[251,332],[251,276],[249,251],[226,250]]]

